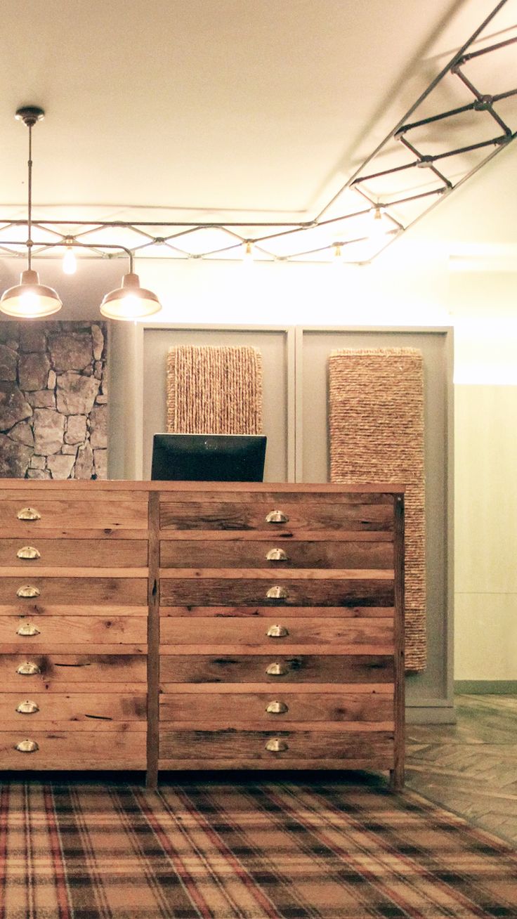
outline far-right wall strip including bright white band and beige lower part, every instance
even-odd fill
[[[455,679],[517,680],[516,278],[482,268],[450,276]]]

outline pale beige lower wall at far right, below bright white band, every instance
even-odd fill
[[[455,386],[455,679],[517,680],[517,386]]]

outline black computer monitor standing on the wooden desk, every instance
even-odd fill
[[[262,482],[266,437],[155,434],[151,478],[159,482]]]

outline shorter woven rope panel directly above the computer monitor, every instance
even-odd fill
[[[167,431],[262,434],[262,355],[254,347],[172,347]]]

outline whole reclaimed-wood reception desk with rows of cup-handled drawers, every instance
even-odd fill
[[[0,489],[4,769],[403,782],[403,489]]]

